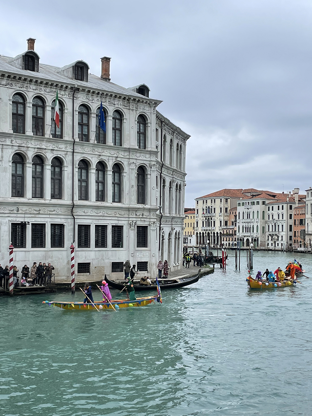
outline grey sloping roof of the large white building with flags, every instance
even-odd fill
[[[69,77],[66,77],[64,74],[57,72],[57,70],[60,70],[59,67],[54,67],[52,65],[46,65],[46,64],[39,64],[39,72],[32,72],[27,71],[25,69],[20,69],[15,67],[14,65],[11,65],[9,61],[11,60],[11,57],[0,55],[0,71],[2,72],[9,72],[10,74],[20,74],[27,78],[32,79],[45,79],[47,81],[52,81],[59,84],[72,84],[73,86],[77,84],[78,87],[87,88],[87,89],[100,89],[107,92],[114,92],[116,94],[122,94],[127,95],[131,97],[136,97],[141,100],[152,100],[151,98],[145,97],[141,94],[138,94],[134,91],[131,91],[129,88],[121,87],[120,85],[114,84],[114,82],[105,81],[101,77],[97,77],[97,75],[89,74],[88,75],[88,82],[84,81],[78,81],[77,79],[71,79]],[[81,60],[80,60],[81,61]],[[64,67],[70,66],[65,65]],[[63,69],[64,69],[63,67]],[[160,100],[152,100],[152,101],[158,101],[161,103]]]

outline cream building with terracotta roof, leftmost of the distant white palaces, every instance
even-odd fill
[[[196,245],[206,245],[209,240],[210,247],[222,243],[222,235],[225,231],[234,231],[230,224],[230,209],[236,206],[236,201],[241,198],[243,189],[221,189],[195,199]],[[233,238],[231,236],[226,238]]]

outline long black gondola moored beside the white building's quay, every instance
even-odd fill
[[[181,277],[180,279],[160,279],[158,280],[161,290],[163,289],[176,289],[178,287],[192,285],[193,283],[198,282],[199,275],[201,273],[201,269],[198,270],[198,274],[196,277]],[[124,280],[109,280],[109,278],[105,277],[106,282],[110,287],[114,287],[114,289],[122,290],[124,289]],[[139,282],[133,282],[134,290],[153,290],[156,289],[156,280],[152,280],[152,284],[149,286],[140,285]]]

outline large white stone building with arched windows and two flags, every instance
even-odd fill
[[[145,84],[110,82],[110,58],[97,77],[84,61],[41,64],[34,44],[0,56],[1,264],[12,242],[20,270],[51,262],[69,281],[73,243],[79,280],[121,276],[127,259],[144,275],[160,257],[181,268],[189,136],[156,111]]]

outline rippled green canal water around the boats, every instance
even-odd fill
[[[312,257],[296,255],[311,279],[251,292],[246,252],[240,272],[234,254],[226,272],[163,290],[161,306],[79,312],[41,303],[79,292],[1,297],[0,415],[310,415]],[[254,270],[292,259],[255,252]]]

